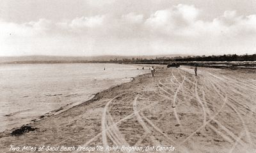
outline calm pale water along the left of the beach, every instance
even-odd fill
[[[124,64],[0,65],[0,131],[21,126],[61,106],[77,105],[97,92],[148,72],[141,66]]]

